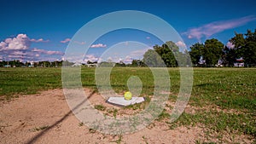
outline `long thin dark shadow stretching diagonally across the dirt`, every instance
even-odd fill
[[[71,111],[67,112],[61,119],[59,119],[58,121],[55,122],[55,124],[49,125],[46,129],[42,130],[38,135],[35,135],[34,137],[32,137],[31,140],[27,141],[27,144],[31,144],[31,143],[35,143],[41,136],[43,136],[44,134],[46,134],[49,130],[51,130],[52,128],[54,128],[57,124],[60,124],[64,119],[66,119],[71,113],[73,113],[73,110],[76,110],[78,107],[80,107],[85,101],[87,101],[88,99],[90,99],[90,97],[92,95],[94,95],[96,93],[96,90],[92,91],[90,93],[90,95],[87,97],[87,99],[85,99],[84,101],[81,101],[79,103],[78,106],[74,107]]]

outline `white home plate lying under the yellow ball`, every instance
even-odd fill
[[[107,101],[113,105],[129,106],[141,103],[145,101],[145,99],[143,97],[132,97],[131,100],[127,101],[124,97],[109,97]]]

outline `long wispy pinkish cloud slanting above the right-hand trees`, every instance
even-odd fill
[[[199,41],[201,41],[201,37],[211,37],[215,33],[223,32],[238,26],[243,26],[253,20],[256,20],[256,17],[249,15],[234,20],[214,21],[203,26],[191,28],[188,30],[188,32],[184,32],[183,34],[186,34],[190,39],[197,38]]]

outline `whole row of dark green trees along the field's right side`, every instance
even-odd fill
[[[170,41],[148,49],[143,62],[148,66],[188,66],[191,60],[194,66],[234,66],[240,59],[245,66],[256,66],[256,29],[254,32],[247,30],[245,34],[235,32],[229,42],[228,47],[216,38],[207,39],[205,43],[193,44],[190,51],[181,52]]]

